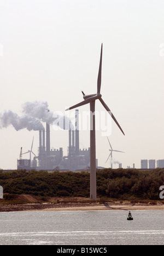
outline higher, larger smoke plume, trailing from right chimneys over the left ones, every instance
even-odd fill
[[[59,126],[63,130],[69,130],[71,120],[61,112],[51,112],[47,102],[25,102],[22,105],[23,112],[33,118],[48,124]],[[73,127],[73,124],[71,123]]]

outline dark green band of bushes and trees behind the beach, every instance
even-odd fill
[[[0,172],[4,193],[37,196],[90,196],[90,173],[16,170]],[[97,171],[97,197],[112,199],[159,200],[159,188],[164,185],[164,170],[107,168]]]

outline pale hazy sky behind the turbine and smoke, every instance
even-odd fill
[[[112,121],[110,143],[125,152],[113,158],[124,168],[164,159],[163,32],[163,0],[0,0],[0,117],[4,110],[21,116],[22,104],[33,101],[65,114],[83,101],[82,89],[96,93],[103,43],[101,93],[125,132]],[[96,110],[104,110],[98,101]],[[30,149],[33,136],[37,154],[38,131],[2,128],[0,168],[16,168],[20,148]],[[89,138],[80,131],[80,148],[90,146]],[[68,131],[51,127],[51,147],[67,155]],[[96,147],[98,165],[109,167],[102,131]]]

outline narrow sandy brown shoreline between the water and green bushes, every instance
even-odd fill
[[[146,205],[143,203],[31,203],[22,205],[0,205],[1,212],[17,211],[132,211],[164,210],[164,204]]]

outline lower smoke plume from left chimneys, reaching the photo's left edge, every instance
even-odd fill
[[[28,131],[43,130],[44,126],[34,117],[29,117],[27,115],[22,115],[19,117],[16,113],[11,110],[6,110],[0,113],[0,129],[7,128],[9,125],[13,125],[16,131],[21,129],[27,129]]]

